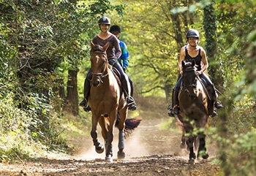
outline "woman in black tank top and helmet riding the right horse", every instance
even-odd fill
[[[172,104],[168,107],[168,110],[170,110],[170,112],[168,112],[168,115],[172,117],[174,117],[174,115],[178,115],[180,110],[178,107],[178,91],[180,90],[182,80],[182,61],[195,60],[197,69],[196,74],[206,81],[207,88],[209,89],[208,93],[211,96],[211,100],[214,101],[214,106],[216,107],[216,109],[220,109],[223,107],[223,105],[219,101],[217,101],[218,94],[214,87],[214,84],[205,73],[206,69],[208,68],[208,61],[206,58],[206,51],[203,49],[203,47],[200,47],[198,45],[200,38],[198,31],[195,29],[190,29],[189,31],[187,31],[186,37],[188,44],[184,47],[181,47],[181,52],[178,60],[178,69],[180,74],[178,76],[178,81],[173,88]],[[217,112],[214,110],[212,116],[215,115],[217,115]]]

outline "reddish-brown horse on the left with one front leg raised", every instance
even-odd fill
[[[122,93],[121,83],[108,65],[105,46],[94,45],[91,42],[91,89],[89,105],[91,107],[91,137],[97,153],[104,151],[104,146],[97,139],[97,124],[101,126],[102,137],[105,139],[105,161],[113,161],[113,129],[119,129],[118,134],[118,158],[124,158],[124,131],[127,123],[128,107]],[[118,124],[116,122],[118,120]],[[138,120],[130,120],[136,123]]]

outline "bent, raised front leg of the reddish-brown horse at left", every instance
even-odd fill
[[[103,145],[98,141],[98,134],[97,134],[97,123],[99,118],[93,114],[92,115],[92,127],[91,127],[91,137],[94,142],[95,150],[97,153],[102,153],[104,151]]]

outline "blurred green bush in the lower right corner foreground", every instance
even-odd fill
[[[227,135],[215,136],[224,175],[256,175],[255,100],[247,98],[233,104],[227,115]]]

